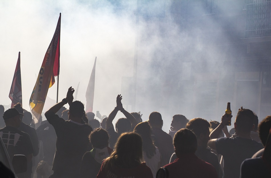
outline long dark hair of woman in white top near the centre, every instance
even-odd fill
[[[147,157],[151,159],[156,154],[155,146],[153,140],[151,139],[151,126],[148,122],[141,122],[136,125],[134,132],[141,136],[143,151],[145,151]]]

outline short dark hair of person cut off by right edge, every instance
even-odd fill
[[[265,146],[270,128],[271,128],[271,116],[266,116],[266,118],[264,118],[264,120],[262,120],[262,122],[260,122],[258,126],[259,137],[264,146]]]

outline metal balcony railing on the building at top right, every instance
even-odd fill
[[[271,1],[248,0],[246,38],[271,36]]]

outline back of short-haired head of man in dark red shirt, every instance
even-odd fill
[[[184,128],[175,133],[173,145],[177,157],[187,153],[195,153],[198,146],[197,137],[191,130]]]

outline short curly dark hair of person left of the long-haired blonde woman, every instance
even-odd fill
[[[108,146],[108,133],[102,128],[96,128],[89,136],[89,141],[94,148],[103,149]]]

